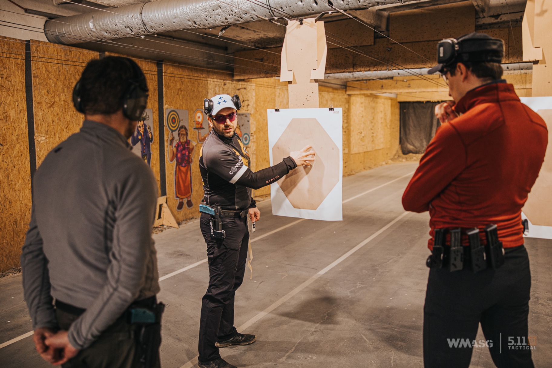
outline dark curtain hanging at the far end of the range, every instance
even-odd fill
[[[439,102],[401,102],[401,151],[421,154],[440,125],[434,109]]]

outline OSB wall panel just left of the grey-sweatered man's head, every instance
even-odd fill
[[[68,136],[78,132],[84,115],[73,106],[73,87],[98,52],[31,40],[36,165]]]

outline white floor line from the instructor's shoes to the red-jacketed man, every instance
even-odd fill
[[[342,255],[341,257],[339,257],[338,259],[336,259],[335,261],[333,261],[331,264],[327,265],[326,267],[324,267],[322,270],[320,270],[319,272],[317,272],[316,274],[312,275],[309,280],[303,282],[301,285],[299,285],[298,287],[294,288],[293,290],[291,290],[289,293],[287,293],[286,295],[284,295],[282,298],[278,299],[278,301],[272,303],[267,309],[264,309],[264,311],[260,312],[257,314],[257,316],[251,318],[250,320],[248,320],[246,323],[242,324],[240,327],[237,328],[238,332],[242,332],[243,330],[245,330],[246,328],[250,327],[253,323],[257,322],[259,319],[263,318],[264,316],[266,316],[267,314],[269,314],[270,312],[274,311],[274,309],[278,308],[279,306],[281,306],[283,303],[285,303],[286,301],[288,301],[289,299],[291,299],[291,297],[293,297],[294,295],[296,295],[297,293],[299,293],[301,290],[303,290],[305,287],[311,285],[311,283],[315,282],[317,280],[317,278],[319,278],[320,276],[322,276],[323,274],[325,274],[326,272],[330,271],[331,269],[333,269],[333,267],[337,266],[338,264],[340,264],[343,260],[347,259],[350,255],[352,255],[353,253],[355,253],[355,251],[359,250],[360,248],[362,248],[364,245],[370,243],[371,240],[374,240],[374,238],[376,238],[378,235],[380,235],[381,233],[383,233],[385,230],[389,229],[392,225],[394,225],[395,223],[399,222],[400,219],[402,219],[403,217],[405,217],[408,213],[410,212],[403,212],[399,215],[399,217],[396,217],[394,220],[392,220],[390,223],[388,223],[387,225],[385,225],[383,228],[379,229],[377,232],[375,232],[374,234],[368,236],[368,238],[364,239],[363,241],[361,241],[359,244],[357,244],[357,246],[355,246],[353,249],[349,250],[346,254]],[[198,355],[199,356],[199,355]],[[183,366],[181,366],[180,368],[192,368],[195,364],[197,364],[198,362],[198,356],[196,356],[194,359],[190,360],[189,362],[187,362],[186,364],[184,364]]]

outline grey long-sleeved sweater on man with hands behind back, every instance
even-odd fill
[[[116,130],[85,120],[36,171],[21,265],[33,328],[57,325],[52,297],[84,308],[68,339],[89,346],[137,299],[159,292],[151,238],[157,183]]]

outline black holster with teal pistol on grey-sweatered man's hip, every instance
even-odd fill
[[[165,304],[156,303],[152,308],[135,307],[129,309],[129,323],[135,327],[136,368],[160,367],[159,347],[161,346],[161,317]]]

